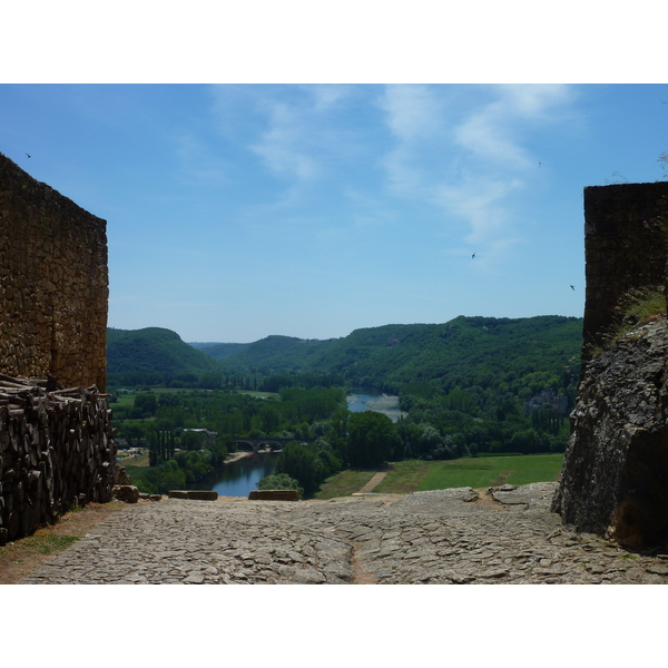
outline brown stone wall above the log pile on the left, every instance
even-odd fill
[[[106,222],[0,154],[0,373],[107,382]]]

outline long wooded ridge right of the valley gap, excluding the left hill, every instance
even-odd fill
[[[399,391],[406,383],[497,386],[540,374],[568,386],[577,380],[582,320],[459,316],[445,324],[384,325],[313,341],[268,336],[225,357],[238,373],[338,373],[350,383]],[[215,348],[209,348],[208,354]]]

